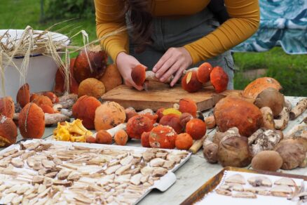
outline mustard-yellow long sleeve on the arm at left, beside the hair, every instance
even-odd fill
[[[125,27],[125,18],[120,17],[124,3],[121,0],[95,0],[96,32],[97,37],[102,38],[107,34]],[[118,53],[128,53],[128,33],[112,34],[101,40],[102,48],[116,61]]]

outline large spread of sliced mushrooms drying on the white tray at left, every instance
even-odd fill
[[[134,204],[188,152],[21,144],[0,154],[1,204]]]

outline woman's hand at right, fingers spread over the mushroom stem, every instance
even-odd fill
[[[172,74],[175,74],[170,86],[174,86],[178,79],[182,76],[182,72],[192,65],[192,57],[186,48],[169,48],[164,53],[161,59],[153,67],[153,72],[156,72],[156,78],[160,81],[166,81]]]

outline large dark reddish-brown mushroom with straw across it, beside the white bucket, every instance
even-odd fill
[[[108,55],[100,46],[80,51],[74,62],[74,78],[80,84],[88,78],[100,79],[107,68]]]

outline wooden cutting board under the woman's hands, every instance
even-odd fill
[[[240,91],[224,91],[215,93],[212,86],[204,87],[196,93],[188,93],[180,85],[170,88],[167,84],[150,82],[148,91],[137,91],[125,85],[118,86],[102,95],[103,101],[115,101],[123,107],[134,107],[135,110],[158,110],[160,107],[172,107],[181,98],[192,98],[195,100],[198,110],[208,110],[221,99]]]

